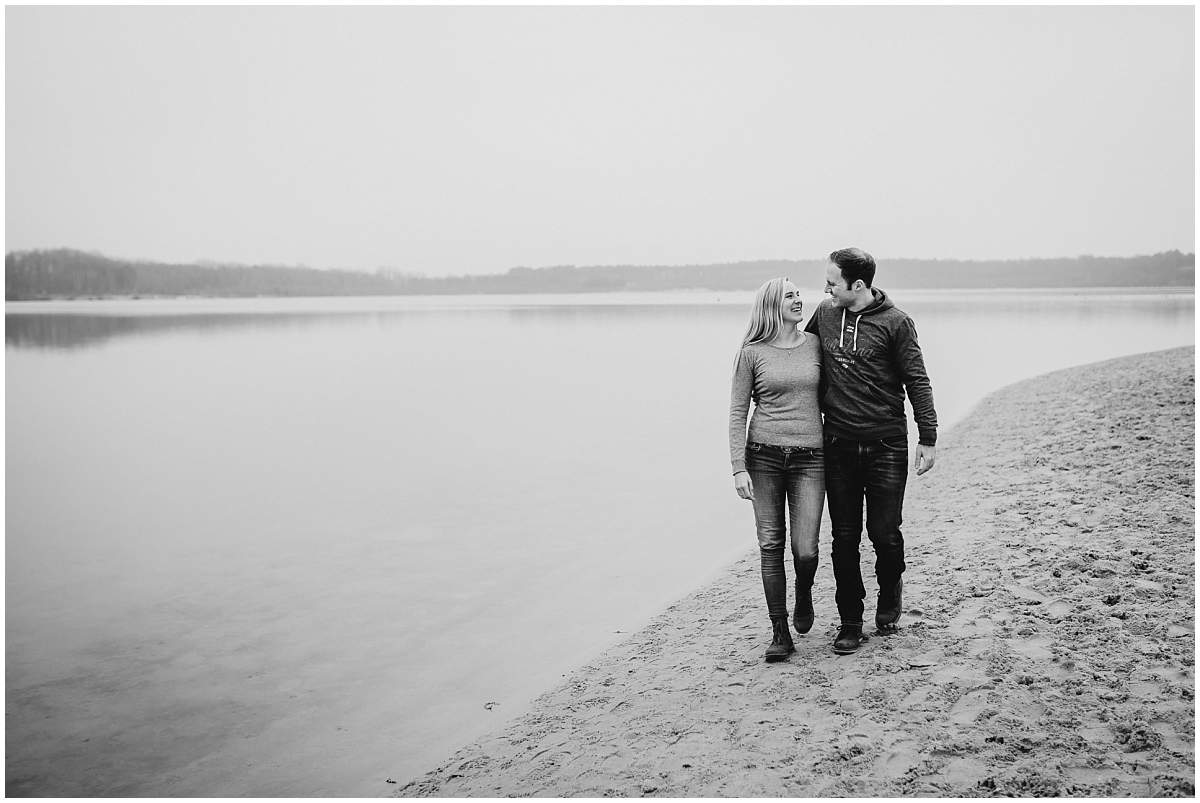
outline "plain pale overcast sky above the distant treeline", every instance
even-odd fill
[[[6,250],[1194,250],[1194,10],[8,7]]]

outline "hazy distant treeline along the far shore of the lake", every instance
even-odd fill
[[[432,295],[448,293],[596,293],[749,290],[773,276],[823,281],[821,259],[767,259],[712,265],[560,265],[504,274],[410,276],[276,265],[166,264],[110,259],[59,248],[5,254],[5,298]],[[881,259],[878,283],[896,288],[1194,287],[1195,254],[1070,259]]]

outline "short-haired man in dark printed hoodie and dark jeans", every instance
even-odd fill
[[[821,338],[826,495],[833,523],[833,573],[841,628],[833,651],[858,651],[863,637],[863,576],[858,545],[866,501],[866,534],[875,547],[880,595],[875,625],[892,630],[900,619],[904,537],[900,534],[908,479],[905,391],[917,419],[913,469],[934,467],[937,414],[912,318],[875,287],[875,259],[859,248],[829,254],[823,301],[805,331]]]

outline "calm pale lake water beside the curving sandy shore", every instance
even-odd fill
[[[750,296],[8,304],[8,793],[386,795],[522,711],[755,547]],[[1194,342],[1190,289],[894,296],[942,431]]]

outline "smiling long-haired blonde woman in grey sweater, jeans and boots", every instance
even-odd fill
[[[804,304],[787,278],[758,288],[750,325],[733,370],[730,401],[730,459],[733,487],[754,503],[762,556],[762,587],[774,630],[766,659],[794,652],[787,629],[787,575],[784,569],[787,501],[796,569],[797,633],[812,628],[812,577],[817,570],[817,532],[824,505],[821,451],[821,342],[799,329]],[[755,402],[746,433],[746,414]],[[748,442],[749,441],[749,442]]]

